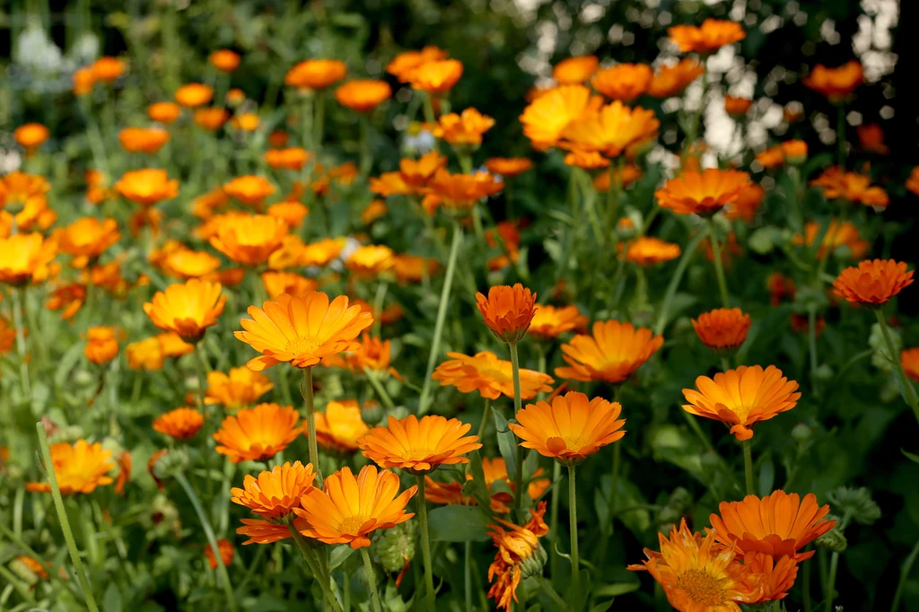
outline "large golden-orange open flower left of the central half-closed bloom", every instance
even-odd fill
[[[329,296],[312,291],[302,298],[281,293],[267,301],[264,310],[248,309],[252,319],[240,321],[244,332],[237,339],[262,353],[246,364],[255,371],[289,362],[295,368],[310,368],[327,355],[357,348],[357,335],[373,323],[373,317],[357,306],[348,306],[346,296],[329,303]]]

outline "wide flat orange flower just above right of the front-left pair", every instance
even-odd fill
[[[466,436],[471,427],[438,414],[425,414],[420,420],[414,414],[402,420],[390,416],[387,426],[374,427],[357,445],[364,457],[381,468],[401,468],[420,476],[440,465],[469,463],[462,455],[482,448],[479,436]]]

